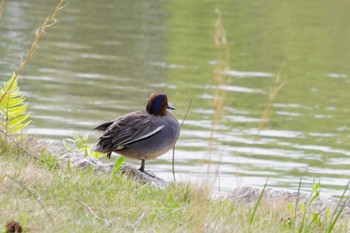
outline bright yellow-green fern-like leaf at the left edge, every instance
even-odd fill
[[[15,134],[29,125],[28,104],[20,95],[15,72],[12,78],[0,87],[0,128],[7,134]]]

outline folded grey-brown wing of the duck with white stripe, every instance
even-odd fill
[[[100,137],[101,150],[122,150],[128,144],[160,132],[164,125],[145,111],[134,112],[116,119]]]

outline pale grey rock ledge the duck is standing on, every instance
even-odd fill
[[[32,155],[36,156],[39,151],[45,152],[57,158],[59,163],[63,165],[67,164],[69,159],[72,168],[88,169],[93,166],[93,171],[107,173],[113,170],[114,163],[103,163],[94,157],[85,157],[82,153],[69,152],[67,149],[59,147],[50,141],[28,138],[25,140],[24,145]],[[119,169],[123,174],[131,176],[141,183],[158,188],[165,188],[167,186],[165,180],[152,173],[141,172],[129,163],[123,163]]]

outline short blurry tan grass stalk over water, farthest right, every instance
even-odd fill
[[[259,129],[258,129],[258,133],[257,133],[258,135],[265,128],[265,123],[267,122],[267,120],[269,119],[270,114],[271,114],[272,104],[275,102],[277,94],[282,89],[283,85],[284,85],[284,82],[282,82],[281,75],[277,74],[275,82],[269,91],[267,105],[266,105],[266,107],[261,115],[261,118],[260,118]]]

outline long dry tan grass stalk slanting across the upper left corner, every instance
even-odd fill
[[[3,3],[3,0],[2,0],[2,3]],[[17,71],[15,72],[16,73],[16,78],[13,79],[13,81],[10,84],[9,88],[7,90],[5,90],[4,94],[0,97],[0,102],[3,100],[3,98],[7,94],[8,90],[11,89],[12,85],[14,84],[14,82],[18,79],[18,76],[24,70],[24,67],[26,66],[26,64],[33,58],[33,56],[34,56],[34,54],[35,54],[35,52],[37,50],[38,43],[39,43],[42,35],[45,33],[45,30],[58,22],[56,17],[57,17],[57,15],[60,13],[60,11],[63,9],[63,7],[65,5],[66,4],[65,4],[64,0],[60,0],[58,5],[56,6],[56,8],[50,12],[50,14],[44,20],[44,22],[37,29],[34,30],[34,40],[33,40],[32,44],[31,44],[30,48],[27,50],[27,55],[26,55],[25,58],[21,58],[21,63],[19,65]],[[1,7],[1,10],[2,10],[2,7]]]

